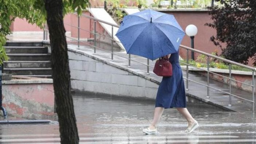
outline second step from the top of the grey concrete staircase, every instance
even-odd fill
[[[19,47],[19,46],[5,46],[5,51],[6,53],[11,53],[11,54],[47,54],[48,53],[48,48],[47,47]]]

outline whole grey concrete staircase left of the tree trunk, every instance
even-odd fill
[[[7,42],[9,57],[4,61],[4,73],[28,77],[51,78],[50,54],[40,42]]]

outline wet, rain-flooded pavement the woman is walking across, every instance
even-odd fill
[[[166,109],[158,124],[159,133],[145,135],[141,130],[152,120],[154,101],[86,94],[75,94],[73,100],[80,144],[256,143],[256,120],[250,112],[225,112],[188,104],[199,129],[189,134],[182,132],[186,120],[176,109]],[[58,123],[0,125],[0,143],[58,144]]]

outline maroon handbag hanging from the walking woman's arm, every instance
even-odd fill
[[[172,65],[165,58],[159,58],[156,63],[153,72],[161,77],[170,77],[172,76]]]

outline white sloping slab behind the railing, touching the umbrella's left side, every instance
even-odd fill
[[[93,15],[93,17],[100,19],[100,20],[104,20],[105,22],[111,23],[111,24],[116,24],[118,25],[113,19],[112,17],[108,14],[108,12],[105,11],[104,8],[90,8],[88,9],[89,12]],[[106,32],[111,36],[112,35],[112,26],[105,24],[105,23],[101,23],[99,22],[100,25],[106,30]],[[113,27],[113,35],[114,35],[114,39],[117,42],[117,44],[120,46],[121,49],[124,50],[124,46],[123,44],[119,43],[120,40],[115,36],[117,31],[119,28],[117,27]]]

